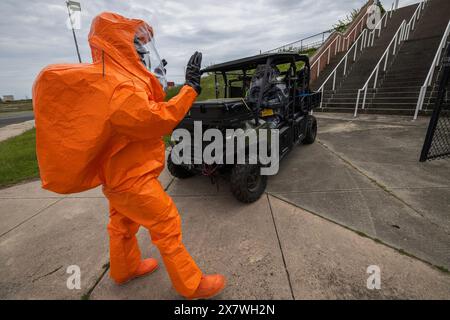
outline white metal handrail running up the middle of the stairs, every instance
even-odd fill
[[[378,76],[380,73],[380,67],[381,63],[384,60],[384,66],[383,66],[383,72],[386,72],[389,62],[389,53],[391,52],[391,48],[393,47],[393,51],[391,56],[394,57],[398,52],[398,47],[400,44],[409,39],[411,31],[415,29],[416,21],[420,19],[420,15],[422,13],[422,10],[425,8],[425,4],[429,0],[423,0],[418,6],[417,9],[414,11],[413,15],[411,16],[411,19],[408,23],[406,23],[406,20],[403,20],[402,24],[398,28],[397,32],[395,33],[394,37],[392,38],[391,42],[389,43],[388,47],[384,51],[383,55],[379,59],[377,65],[373,69],[372,73],[370,74],[369,78],[367,79],[366,83],[361,89],[358,89],[358,95],[356,97],[356,105],[355,105],[355,113],[354,116],[356,117],[358,115],[358,108],[359,108],[359,100],[361,98],[361,92],[364,91],[363,101],[361,109],[364,110],[366,106],[366,99],[367,99],[367,90],[369,88],[369,84],[373,79],[373,89],[377,88],[378,84]]]

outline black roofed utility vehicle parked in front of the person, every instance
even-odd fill
[[[277,158],[281,160],[297,144],[312,144],[316,139],[317,120],[312,110],[320,105],[321,94],[310,90],[310,71],[309,58],[297,53],[262,54],[210,66],[202,73],[214,77],[216,99],[196,102],[178,128],[194,133],[194,123],[201,121],[203,130],[218,129],[224,140],[234,139],[227,136],[227,129],[276,129]],[[173,146],[177,143],[180,141]],[[246,141],[246,149],[248,144]],[[203,142],[200,148],[206,146]],[[268,177],[261,174],[264,165],[259,161],[251,164],[247,158],[244,164],[227,164],[230,151],[224,150],[224,161],[207,164],[195,161],[195,152],[191,153],[192,161],[182,163],[172,150],[167,166],[174,177],[204,175],[214,182],[219,176],[228,176],[231,192],[244,203],[257,201],[265,192]]]

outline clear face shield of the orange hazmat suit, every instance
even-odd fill
[[[150,27],[141,27],[134,38],[136,51],[148,71],[159,80],[164,90],[167,89],[165,60],[161,59],[155,46],[153,31]]]

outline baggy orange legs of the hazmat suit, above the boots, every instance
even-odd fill
[[[114,208],[108,227],[111,277],[121,282],[136,272],[141,254],[135,234],[142,225],[150,231],[175,290],[184,297],[192,296],[199,287],[202,272],[182,243],[178,210],[158,180],[142,179],[126,191],[105,188],[104,192]]]

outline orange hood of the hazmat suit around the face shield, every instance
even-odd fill
[[[89,44],[94,63],[102,63],[108,73],[108,60],[131,73],[145,84],[155,101],[163,101],[165,92],[159,80],[142,63],[134,44],[140,30],[153,37],[153,29],[146,22],[128,19],[121,15],[104,12],[94,18],[89,33]]]

